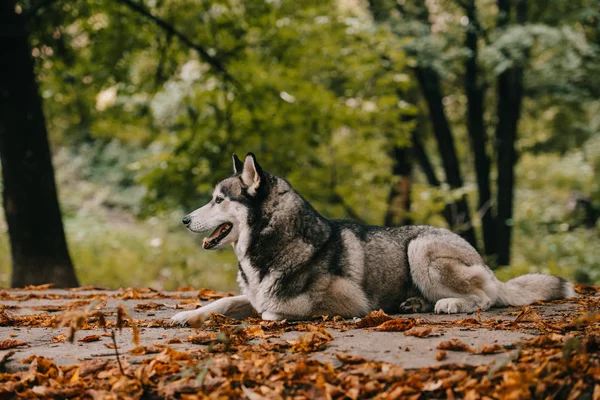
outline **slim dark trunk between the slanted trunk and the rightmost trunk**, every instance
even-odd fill
[[[479,192],[478,208],[481,213],[481,225],[485,253],[488,256],[496,254],[496,230],[492,209],[492,193],[490,189],[490,158],[486,150],[484,112],[484,91],[477,81],[477,39],[476,29],[477,9],[475,0],[466,0],[465,11],[469,18],[466,33],[466,47],[470,54],[465,65],[465,92],[467,94],[467,128],[471,147],[475,155],[475,172]]]

